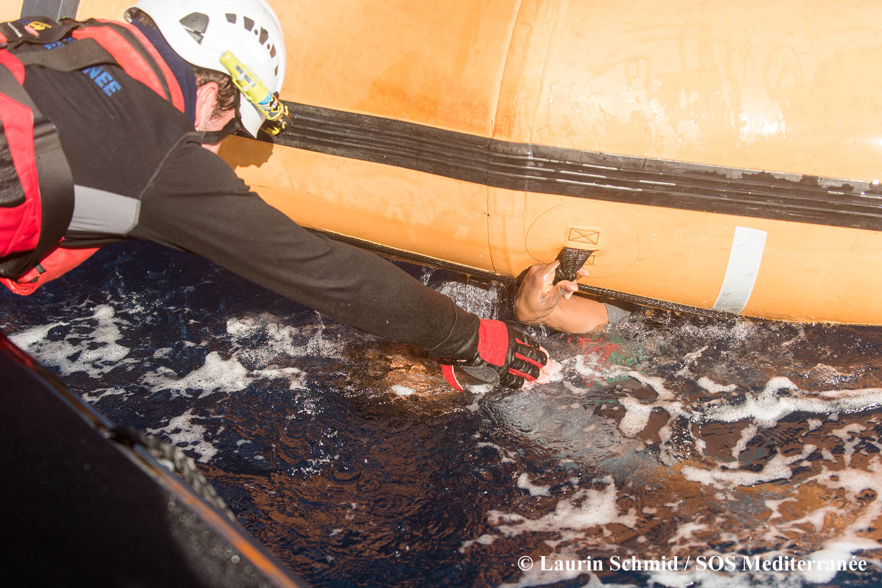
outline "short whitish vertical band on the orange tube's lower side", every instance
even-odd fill
[[[747,301],[751,299],[753,285],[757,281],[764,249],[766,249],[766,231],[735,227],[726,276],[722,279],[720,294],[717,295],[712,309],[733,314],[744,310]]]

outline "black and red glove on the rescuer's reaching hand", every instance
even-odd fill
[[[501,383],[518,390],[525,380],[533,382],[539,377],[549,359],[533,338],[502,321],[482,320],[474,348],[470,360],[439,360],[447,382],[457,390],[462,390],[462,386],[453,373],[454,367],[483,382]]]

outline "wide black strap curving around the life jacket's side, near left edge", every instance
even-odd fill
[[[4,65],[0,65],[0,92],[31,108],[34,113],[34,159],[40,185],[40,241],[36,249],[0,264],[0,274],[18,278],[55,247],[73,217],[73,175],[67,163],[56,126],[42,115],[34,100]]]

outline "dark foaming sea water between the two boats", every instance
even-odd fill
[[[404,267],[505,317],[501,287]],[[316,585],[882,584],[882,329],[639,312],[534,328],[551,383],[460,393],[420,350],[148,243],[0,293],[0,327],[186,449]]]

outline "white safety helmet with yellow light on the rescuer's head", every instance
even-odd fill
[[[285,78],[285,39],[273,9],[264,0],[138,0],[125,12],[127,19],[134,9],[153,19],[184,61],[226,74],[231,73],[231,61],[236,64],[245,82],[243,86],[233,71],[242,93],[239,120],[251,137],[257,137],[260,126],[273,118],[273,108],[280,104],[271,100],[269,106],[267,92],[258,96],[261,89],[255,90],[255,83],[260,86],[262,82],[264,90],[277,97]],[[230,55],[235,57],[231,60]],[[252,74],[259,79],[254,80]]]

